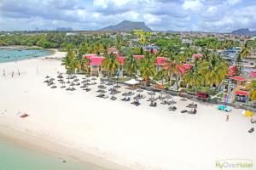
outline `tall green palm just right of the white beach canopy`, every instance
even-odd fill
[[[152,57],[148,52],[145,55],[144,59],[140,60],[139,70],[141,76],[146,80],[147,85],[150,85],[150,77],[155,76],[155,67],[154,67],[155,58]]]

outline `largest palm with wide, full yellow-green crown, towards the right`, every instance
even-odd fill
[[[228,65],[216,55],[212,55],[209,60],[202,60],[199,67],[199,73],[203,75],[203,82],[206,82],[211,88],[214,84],[219,85],[228,73]]]

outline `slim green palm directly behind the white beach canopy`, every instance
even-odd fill
[[[137,59],[131,54],[128,55],[124,60],[124,68],[128,75],[135,76],[138,70]]]

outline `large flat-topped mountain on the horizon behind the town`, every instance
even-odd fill
[[[100,31],[152,31],[144,22],[131,22],[129,20],[124,20],[115,26],[107,26],[102,28]]]

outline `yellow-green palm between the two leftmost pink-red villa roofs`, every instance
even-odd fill
[[[114,71],[117,70],[119,66],[119,61],[116,59],[115,55],[109,54],[103,61],[102,67],[108,71],[108,76],[114,74]]]

